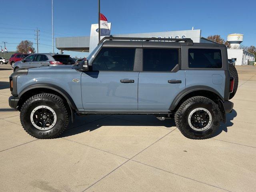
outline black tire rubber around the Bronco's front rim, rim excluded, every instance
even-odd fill
[[[49,106],[57,116],[56,124],[49,130],[39,130],[33,126],[30,114],[37,106]],[[52,139],[58,137],[68,126],[69,123],[68,106],[62,98],[54,94],[42,93],[29,98],[20,110],[20,122],[24,130],[31,136],[38,139]]]

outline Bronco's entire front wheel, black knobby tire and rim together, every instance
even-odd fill
[[[20,110],[24,130],[38,139],[59,136],[69,123],[68,106],[54,94],[37,94],[29,98]]]

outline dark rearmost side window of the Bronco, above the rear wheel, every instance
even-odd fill
[[[188,49],[189,68],[222,68],[220,49]]]

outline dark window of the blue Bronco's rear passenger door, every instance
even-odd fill
[[[171,71],[177,64],[178,49],[143,49],[143,71]]]

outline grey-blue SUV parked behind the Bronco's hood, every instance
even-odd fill
[[[16,71],[20,68],[33,68],[42,65],[73,65],[74,59],[69,55],[64,54],[50,54],[50,53],[36,53],[31,54],[21,61],[14,64],[13,70]]]

